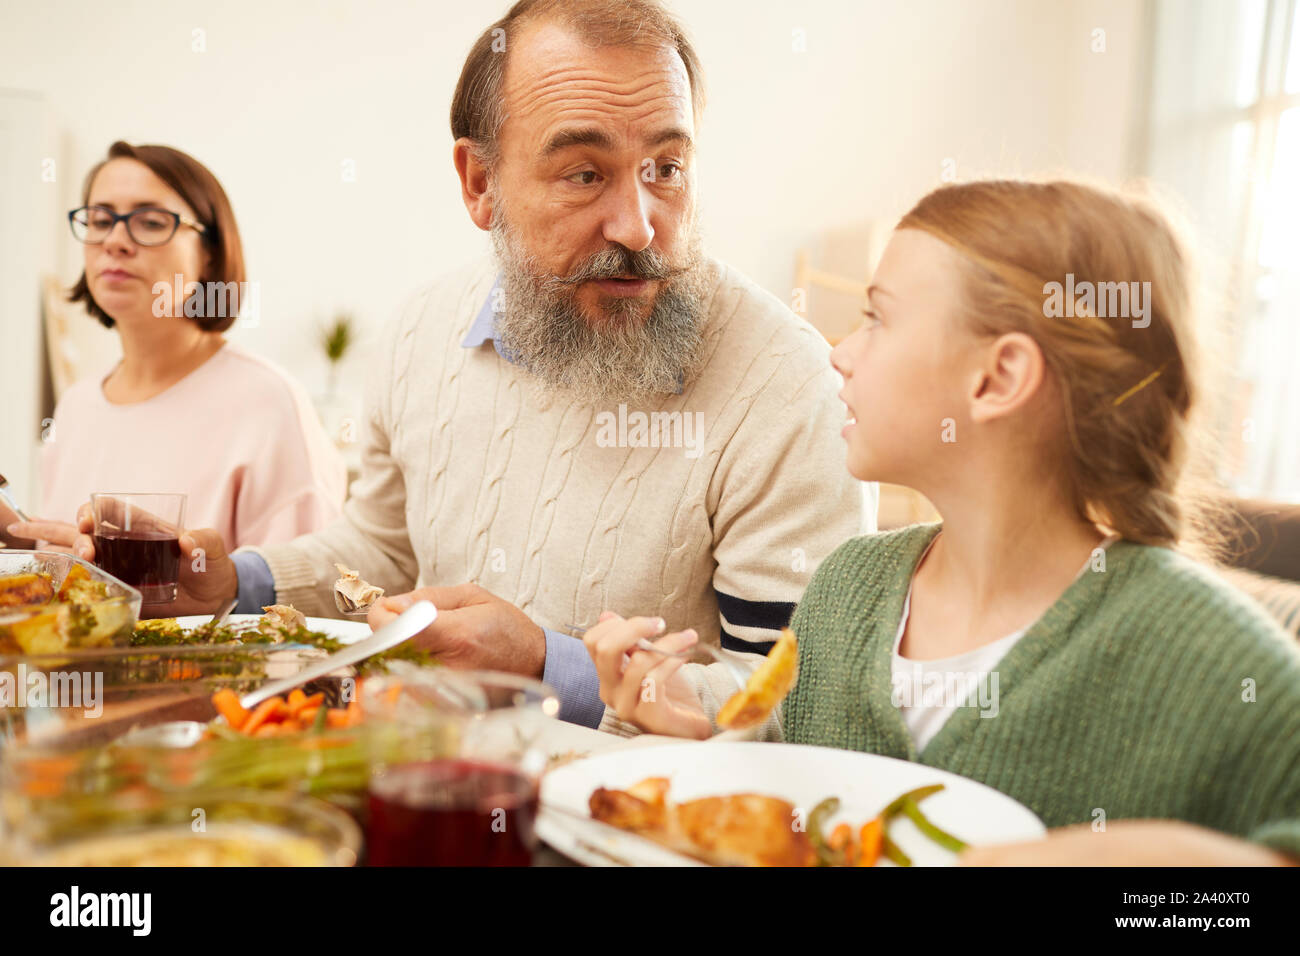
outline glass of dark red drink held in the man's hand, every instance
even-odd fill
[[[95,563],[139,591],[144,604],[176,601],[185,496],[100,492],[90,501]]]

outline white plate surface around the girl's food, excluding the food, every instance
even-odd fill
[[[806,814],[826,797],[840,797],[828,829],[846,821],[854,831],[901,793],[942,783],[945,788],[926,797],[920,808],[935,826],[971,845],[1034,840],[1046,832],[1032,812],[1005,793],[924,763],[827,747],[689,743],[612,750],[550,771],[542,778],[538,835],[560,853],[593,866],[690,864],[633,835],[546,809],[558,805],[588,817],[588,799],[597,787],[625,788],[646,777],[670,778],[673,803],[751,792],[789,800]],[[905,817],[890,822],[889,835],[915,866],[948,866],[957,858]]]

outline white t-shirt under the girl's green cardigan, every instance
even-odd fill
[[[937,535],[931,540],[933,546]],[[1119,540],[1118,535],[1106,537],[1098,548],[1105,550]],[[930,553],[930,546],[920,555],[920,567]],[[1092,564],[1092,555],[1075,575],[1078,580]],[[916,743],[916,752],[926,749],[948,718],[958,706],[976,706],[982,713],[997,713],[997,672],[993,670],[1006,652],[1030,630],[1023,627],[991,644],[967,650],[954,657],[941,657],[935,661],[914,661],[898,653],[902,635],[907,630],[907,615],[911,611],[911,585],[907,587],[907,600],[902,605],[902,619],[894,635],[892,693],[893,704],[902,711],[907,732]]]

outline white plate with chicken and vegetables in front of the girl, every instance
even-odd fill
[[[594,866],[948,866],[1041,838],[1026,806],[893,757],[772,743],[602,753],[545,775],[541,839]]]

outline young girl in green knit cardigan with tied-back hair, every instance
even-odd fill
[[[965,862],[1300,858],[1300,653],[1178,550],[1208,398],[1192,306],[1144,202],[1069,182],[922,199],[831,362],[849,471],[942,522],[818,568],[790,624],[798,682],[762,736],[950,770],[1053,829]],[[736,687],[633,648],[662,630],[606,613],[586,633],[603,726],[706,737]]]

